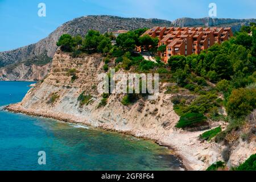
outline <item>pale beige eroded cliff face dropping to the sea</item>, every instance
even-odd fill
[[[109,64],[113,64],[113,61]],[[98,107],[102,96],[96,89],[99,82],[97,76],[104,72],[103,65],[102,57],[98,54],[73,59],[67,53],[57,51],[47,77],[31,88],[22,102],[7,109],[153,139],[174,148],[175,154],[183,158],[188,169],[203,170],[209,163],[221,160],[223,146],[214,142],[202,143],[198,139],[204,131],[190,132],[175,128],[179,116],[173,109],[172,94],[164,94],[165,84],[160,84],[156,100],[141,98],[133,105],[124,106],[121,104],[123,94],[111,94],[107,104]],[[70,69],[76,69],[77,79],[73,82],[68,74]],[[81,93],[89,98],[84,105],[78,100]],[[214,122],[214,125],[225,127],[223,122]],[[231,158],[230,165],[243,162],[255,148],[255,143],[241,144],[235,148],[240,150],[236,157]]]

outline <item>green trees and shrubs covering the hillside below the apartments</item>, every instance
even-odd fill
[[[255,139],[256,103],[256,28],[255,24],[242,27],[234,37],[202,51],[200,55],[172,56],[168,64],[155,56],[157,63],[144,60],[134,51],[136,46],[146,47],[151,55],[156,53],[157,40],[142,36],[146,28],[129,31],[116,39],[112,34],[100,34],[90,30],[84,36],[64,34],[57,42],[62,51],[73,57],[86,53],[102,53],[104,71],[110,67],[137,73],[159,73],[161,82],[175,83],[165,93],[173,94],[174,109],[180,115],[176,127],[184,130],[201,130],[209,123],[225,121],[225,130],[220,127],[204,133],[199,138],[222,142],[225,161],[230,148],[238,139],[250,142]],[[249,34],[251,33],[251,35]],[[116,44],[111,41],[115,39]],[[114,63],[113,63],[114,60]],[[102,96],[104,105],[108,95]],[[122,104],[132,105],[143,94],[126,94]],[[225,110],[227,113],[225,113]],[[204,127],[203,127],[204,126]],[[220,162],[221,166],[222,162]]]

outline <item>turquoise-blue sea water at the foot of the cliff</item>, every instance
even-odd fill
[[[0,106],[24,97],[32,82],[0,81]],[[46,164],[38,164],[38,152]],[[0,111],[0,170],[175,170],[165,147],[118,133]]]

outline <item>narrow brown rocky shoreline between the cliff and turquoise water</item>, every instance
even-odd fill
[[[10,104],[10,105],[6,105],[6,106],[2,106],[2,108],[3,108],[3,110],[9,111],[11,113],[21,113],[21,114],[30,115],[30,116],[33,116],[33,117],[43,117],[43,118],[55,119],[57,121],[64,122],[64,123],[82,124],[82,125],[93,127],[94,129],[100,129],[100,130],[103,130],[103,131],[110,131],[110,132],[115,132],[115,133],[119,133],[119,134],[129,135],[131,137],[136,137],[136,138],[140,138],[140,139],[144,139],[144,140],[150,140],[150,141],[154,142],[155,144],[158,144],[159,146],[167,147],[168,150],[170,151],[170,154],[175,155],[175,157],[181,161],[181,169],[184,169],[184,171],[194,170],[190,166],[190,164],[189,164],[188,160],[185,158],[185,156],[183,156],[181,154],[177,154],[174,147],[172,147],[170,144],[163,143],[160,140],[148,138],[148,137],[145,137],[145,136],[138,136],[136,134],[133,134],[131,131],[121,131],[121,130],[112,129],[112,128],[109,128],[109,127],[104,127],[103,125],[95,127],[95,126],[92,126],[89,122],[78,122],[78,121],[76,121],[76,119],[58,117],[56,115],[51,115],[51,114],[36,113],[34,111],[29,111],[29,110],[24,109],[24,108],[21,109],[20,106],[18,106],[17,104]]]

